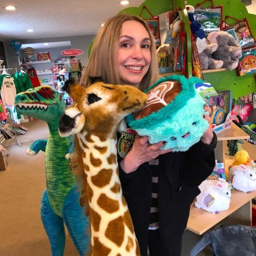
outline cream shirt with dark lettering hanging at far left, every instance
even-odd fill
[[[15,96],[19,92],[15,77],[13,75],[1,75],[0,86],[0,94],[5,107],[14,106]]]

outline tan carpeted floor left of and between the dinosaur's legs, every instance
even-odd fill
[[[0,256],[50,256],[47,235],[40,218],[41,195],[45,188],[44,152],[27,156],[33,140],[47,139],[46,122],[24,123],[29,131],[6,146],[8,168],[0,171]],[[13,144],[13,145],[10,145]],[[70,236],[66,236],[65,256],[78,256]]]

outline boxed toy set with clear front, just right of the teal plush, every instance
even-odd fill
[[[209,96],[212,108],[211,124],[215,133],[231,127],[232,91],[219,91],[217,96]]]

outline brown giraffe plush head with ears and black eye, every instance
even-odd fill
[[[76,102],[59,120],[62,137],[77,134],[81,129],[98,137],[115,137],[121,120],[143,108],[148,100],[145,93],[129,85],[112,85],[97,81],[87,88],[72,81],[64,90]]]

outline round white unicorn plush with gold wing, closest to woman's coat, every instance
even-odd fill
[[[195,207],[215,213],[227,210],[230,206],[231,188],[230,183],[222,178],[204,180],[199,185],[201,193],[196,197]]]

